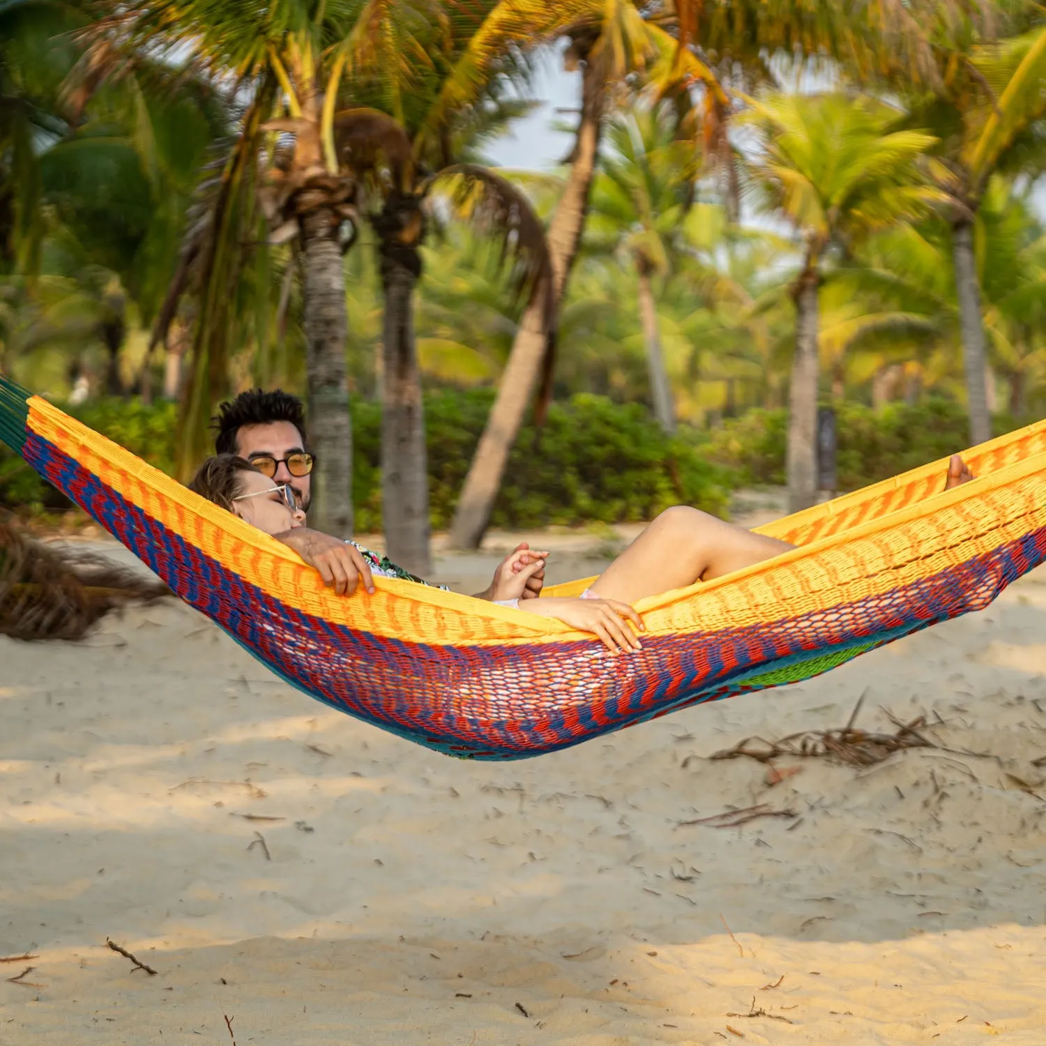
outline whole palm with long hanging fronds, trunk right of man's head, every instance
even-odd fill
[[[103,26],[96,48],[191,65],[227,87],[242,107],[237,131],[201,186],[181,269],[156,336],[190,285],[200,299],[184,474],[204,452],[206,422],[226,388],[244,245],[295,238],[300,258],[310,440],[317,451],[314,522],[351,531],[351,430],[345,366],[347,318],[342,253],[356,217],[356,183],[336,143],[346,68],[411,82],[413,30],[424,4],[409,0],[276,0],[263,8],[208,0],[135,0]],[[118,66],[118,62],[111,62]]]

